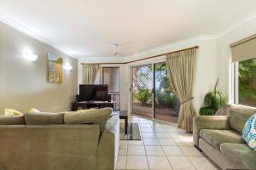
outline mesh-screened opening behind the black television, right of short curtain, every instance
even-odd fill
[[[110,94],[111,99],[116,102],[114,110],[119,110],[119,67],[103,67],[102,84],[108,84],[108,94]]]

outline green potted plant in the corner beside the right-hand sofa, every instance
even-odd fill
[[[204,99],[204,107],[201,107],[199,114],[210,116],[215,115],[219,108],[223,107],[227,103],[226,95],[217,89],[218,79],[215,83],[213,92],[209,92]]]

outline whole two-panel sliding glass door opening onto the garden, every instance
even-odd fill
[[[132,112],[177,123],[179,101],[168,79],[166,62],[132,67]]]

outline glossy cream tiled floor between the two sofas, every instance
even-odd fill
[[[142,140],[120,140],[116,169],[218,170],[192,143],[192,134],[174,124],[130,116],[138,122]]]

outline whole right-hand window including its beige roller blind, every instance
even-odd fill
[[[256,107],[256,34],[230,45],[235,104]]]

